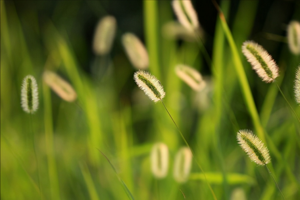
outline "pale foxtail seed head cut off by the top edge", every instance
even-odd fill
[[[198,16],[190,0],[173,0],[173,10],[178,21],[189,31],[199,28]]]

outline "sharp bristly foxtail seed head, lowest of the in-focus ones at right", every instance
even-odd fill
[[[268,148],[250,130],[239,130],[237,133],[238,144],[247,153],[250,160],[258,165],[265,165],[271,162]]]

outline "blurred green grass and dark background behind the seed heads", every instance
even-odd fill
[[[238,146],[236,132],[257,126],[245,103],[232,49],[211,1],[192,1],[212,63],[196,42],[163,34],[176,20],[171,1],[0,1],[1,140],[0,199],[128,199],[122,183],[97,150],[116,168],[135,199],[213,199],[193,160],[190,180],[173,179],[173,159],[185,146],[161,102],[153,103],[134,83],[121,37],[133,32],[149,52],[149,71],[164,86],[164,103],[195,152],[217,199],[282,199],[265,167],[257,167]],[[293,84],[299,55],[286,43],[286,26],[300,20],[299,1],[217,1],[243,62],[271,168],[286,199],[300,196],[300,125],[276,83],[266,84],[241,53],[245,40],[262,45],[276,60],[276,79],[300,116]],[[95,55],[95,26],[115,16],[116,37],[107,55]],[[195,92],[175,74],[176,64],[199,70],[208,87]],[[60,99],[42,81],[45,69],[69,81],[76,103]],[[36,113],[20,106],[22,79],[39,87]],[[32,123],[32,128],[31,128]],[[33,148],[35,143],[36,156]],[[150,170],[154,143],[166,143],[170,168],[157,180]],[[181,191],[182,192],[181,192]],[[41,191],[41,193],[40,193]],[[184,196],[182,195],[184,193]],[[242,199],[241,196],[238,199]]]

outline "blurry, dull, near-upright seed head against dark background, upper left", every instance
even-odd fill
[[[117,28],[115,17],[106,16],[98,22],[93,41],[93,50],[96,55],[105,55],[110,52]]]

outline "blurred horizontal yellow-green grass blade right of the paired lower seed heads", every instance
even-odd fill
[[[206,172],[206,179],[209,183],[214,184],[222,184],[223,183],[223,174],[220,172]],[[245,174],[237,174],[237,173],[227,173],[226,179],[228,184],[255,184],[255,180],[253,177],[245,175]],[[190,180],[203,180],[205,181],[203,173],[191,173]]]

